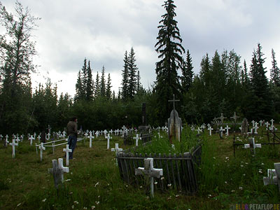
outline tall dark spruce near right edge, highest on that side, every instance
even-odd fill
[[[269,85],[267,77],[265,76],[265,58],[263,57],[262,47],[258,43],[257,50],[253,52],[251,63],[251,88],[253,91],[253,99],[251,106],[251,118],[254,119],[268,119],[271,116],[271,99],[269,97]]]

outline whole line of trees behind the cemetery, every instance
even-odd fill
[[[83,130],[114,129],[141,125],[141,104],[146,103],[147,121],[164,125],[169,118],[175,94],[184,123],[210,123],[213,118],[228,118],[234,112],[241,118],[280,120],[280,75],[272,49],[270,79],[264,67],[265,55],[260,43],[252,52],[250,63],[241,60],[235,50],[216,51],[202,57],[200,72],[193,71],[189,50],[183,48],[177,26],[174,1],[164,3],[166,13],[158,26],[155,50],[155,83],[145,89],[134,48],[125,51],[121,87],[112,91],[111,75],[105,67],[93,78],[92,64],[86,58],[77,69],[76,94],[57,94],[57,85],[48,79],[31,88],[30,73],[35,71],[36,55],[31,32],[39,18],[31,15],[18,1],[15,13],[8,13],[0,3],[0,133],[41,132],[48,125],[63,130],[71,116],[77,116]]]

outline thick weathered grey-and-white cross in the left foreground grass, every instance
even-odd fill
[[[63,183],[63,174],[64,172],[69,173],[69,167],[63,166],[63,159],[52,160],[52,169],[48,169],[48,172],[53,175],[53,179],[55,181],[55,188],[58,189],[59,184]]]

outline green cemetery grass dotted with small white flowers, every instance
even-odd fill
[[[120,148],[130,147],[118,137],[111,139],[111,148],[115,143]],[[279,146],[263,146],[256,150],[255,157],[238,148],[234,158],[232,136],[219,139],[218,134],[205,134],[202,165],[197,168],[197,194],[156,190],[151,199],[144,186],[123,183],[115,153],[106,150],[105,139],[94,139],[92,148],[88,145],[88,140],[85,144],[78,142],[76,159],[70,160],[70,173],[64,174],[64,186],[59,191],[48,168],[52,159],[64,157],[64,146],[56,148],[55,155],[46,148],[42,162],[26,140],[16,148],[15,158],[10,146],[1,146],[0,209],[230,209],[230,204],[279,203],[277,186],[262,183],[267,169],[279,162]]]

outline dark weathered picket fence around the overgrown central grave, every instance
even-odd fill
[[[197,167],[200,165],[202,146],[197,146],[193,153],[150,154],[118,153],[118,167],[123,181],[135,186],[144,186],[144,176],[136,176],[135,169],[144,167],[145,158],[153,158],[154,168],[163,170],[163,178],[154,178],[155,190],[172,188],[193,195],[197,192]],[[170,185],[171,184],[171,185]]]

